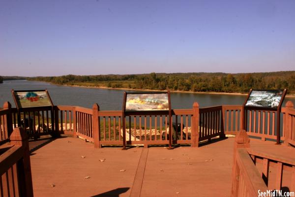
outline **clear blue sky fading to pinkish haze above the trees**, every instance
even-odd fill
[[[295,70],[295,0],[0,0],[0,75]]]

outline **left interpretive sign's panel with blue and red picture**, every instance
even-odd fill
[[[12,95],[18,108],[52,106],[52,102],[46,90],[12,90]]]

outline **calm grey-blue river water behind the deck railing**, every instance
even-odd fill
[[[9,101],[12,106],[15,107],[11,89],[47,89],[55,105],[78,105],[91,108],[93,103],[98,103],[100,110],[121,110],[124,92],[124,90],[58,86],[45,82],[27,80],[4,81],[0,84],[0,106],[2,106],[5,101]],[[245,98],[246,96],[241,95],[171,94],[172,108],[174,109],[192,108],[194,101],[197,101],[200,107],[222,104],[243,104]],[[286,98],[284,103],[288,100],[292,100],[293,103],[295,103],[295,98]]]

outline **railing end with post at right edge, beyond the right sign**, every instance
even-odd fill
[[[291,101],[282,108],[283,113],[283,132],[285,134],[285,143],[295,146],[295,109]]]

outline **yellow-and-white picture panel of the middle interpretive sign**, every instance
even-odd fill
[[[168,93],[130,94],[126,96],[125,111],[169,110]]]

